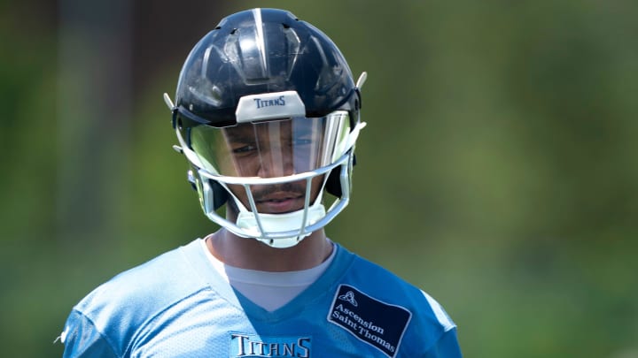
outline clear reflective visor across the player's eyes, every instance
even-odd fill
[[[203,169],[230,177],[278,178],[332,164],[346,152],[350,118],[285,118],[215,128],[191,128]]]

